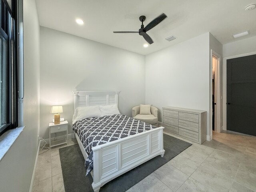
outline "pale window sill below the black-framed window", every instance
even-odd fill
[[[24,127],[25,126],[8,130],[0,136],[0,162],[23,131]]]

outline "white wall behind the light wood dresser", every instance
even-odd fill
[[[209,33],[146,55],[146,104],[207,111],[209,135]]]

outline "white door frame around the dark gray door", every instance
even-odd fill
[[[250,55],[255,55],[256,52],[250,52],[250,53],[244,53],[244,54],[239,54],[239,55],[234,55],[234,56],[228,56],[223,58],[223,73],[222,73],[222,90],[223,90],[223,130],[227,130],[227,60],[228,59],[234,59],[238,57],[244,57],[244,56],[250,56]]]

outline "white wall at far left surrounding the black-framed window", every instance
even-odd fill
[[[39,126],[39,22],[35,0],[24,0],[24,125],[0,162],[0,191],[28,192]]]

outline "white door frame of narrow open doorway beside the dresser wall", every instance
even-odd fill
[[[211,64],[210,64],[210,69],[211,69],[211,74],[210,74],[210,137],[212,138],[212,57],[214,56],[215,58],[217,58],[217,65],[215,66],[216,68],[216,76],[214,77],[217,80],[217,92],[216,92],[216,132],[221,132],[221,125],[220,125],[220,114],[221,114],[221,86],[220,86],[220,63],[221,63],[221,56],[220,54],[218,54],[217,52],[215,52],[214,50],[211,49]]]

